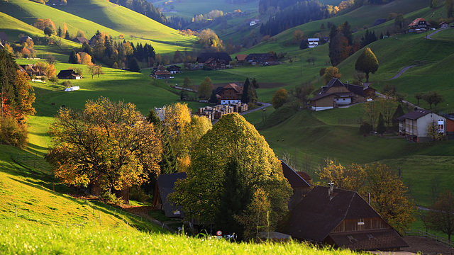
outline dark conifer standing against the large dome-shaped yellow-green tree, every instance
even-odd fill
[[[243,239],[243,226],[238,223],[235,216],[243,213],[252,198],[250,187],[243,181],[243,174],[243,167],[238,159],[230,159],[224,169],[223,193],[215,216],[217,229],[226,234],[235,233],[240,240]]]

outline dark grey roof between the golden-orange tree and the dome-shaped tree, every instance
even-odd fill
[[[162,207],[164,208],[165,216],[167,217],[179,217],[182,216],[182,207],[175,206],[167,201],[167,196],[173,193],[175,188],[175,182],[179,179],[186,179],[186,173],[175,173],[175,174],[160,174],[157,176],[156,182],[159,189]],[[179,214],[178,214],[179,212]]]

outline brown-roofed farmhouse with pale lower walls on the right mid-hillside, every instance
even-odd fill
[[[312,111],[322,111],[350,103],[365,101],[364,88],[353,84],[343,84],[336,78],[321,87],[319,95],[311,98]]]

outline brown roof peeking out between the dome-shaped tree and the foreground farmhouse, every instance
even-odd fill
[[[299,202],[304,198],[304,196],[309,193],[311,184],[311,176],[306,172],[297,172],[294,171],[287,163],[281,160],[282,164],[282,172],[284,177],[289,181],[290,186],[293,189],[293,195],[289,200],[288,207],[289,210],[292,211],[295,206],[298,205]]]

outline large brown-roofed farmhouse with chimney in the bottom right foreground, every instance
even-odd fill
[[[395,251],[408,244],[355,191],[316,186],[292,210],[292,238],[355,251]]]

